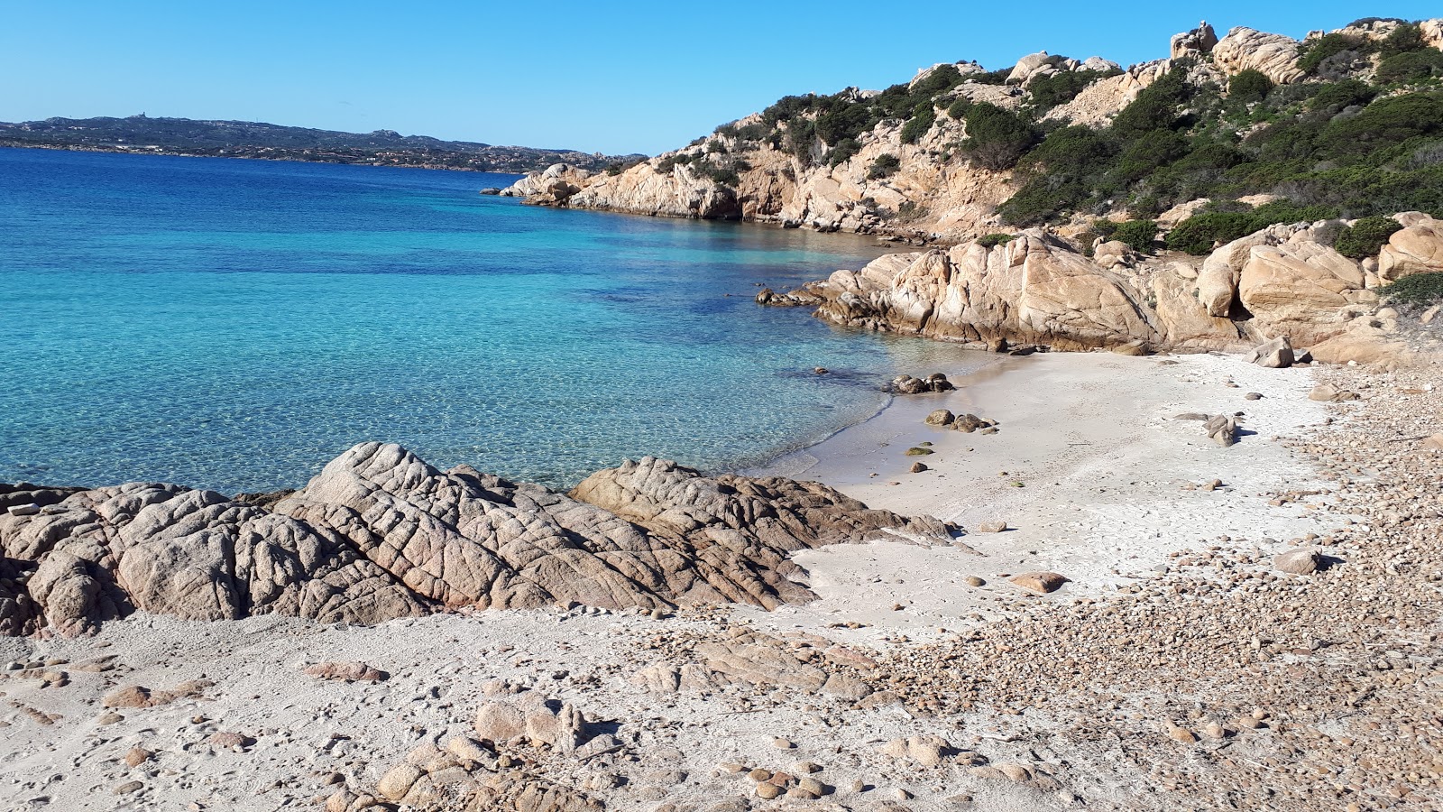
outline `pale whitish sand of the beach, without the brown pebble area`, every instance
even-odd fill
[[[137,614],[105,624],[94,639],[0,639],[0,663],[63,660],[51,669],[69,678],[58,688],[33,678],[0,679],[0,809],[315,808],[335,790],[328,782],[374,787],[411,747],[469,730],[485,683],[498,678],[616,722],[631,744],[626,756],[538,767],[564,786],[622,776],[619,789],[599,793],[613,809],[742,798],[750,783],[722,764],[788,769],[798,760],[823,764],[821,776],[838,787],[824,802],[846,808],[898,802],[899,790],[915,796],[906,802],[911,809],[951,809],[947,799],[958,793],[974,796],[977,809],[1065,808],[1072,789],[1094,805],[1126,805],[1127,790],[1117,787],[1131,782],[1121,773],[1039,793],[887,759],[879,753],[885,741],[915,734],[947,735],[994,763],[1038,759],[986,727],[913,718],[900,705],[859,711],[827,696],[734,688],[658,696],[628,682],[661,659],[649,650],[658,642],[724,637],[745,626],[882,655],[1006,613],[1110,595],[1159,576],[1167,553],[1205,549],[1222,535],[1271,552],[1283,549],[1274,539],[1322,529],[1313,510],[1274,507],[1264,496],[1317,484],[1312,464],[1277,442],[1325,419],[1323,407],[1306,397],[1313,386],[1307,368],[1263,370],[1225,355],[1039,354],[1001,360],[958,383],[954,393],[898,397],[876,418],[775,468],[833,484],[873,507],[931,513],[968,529],[990,520],[1014,527],[960,539],[971,549],[899,539],[810,550],[797,561],[820,600],[772,613],[723,607],[654,620],[495,611],[374,629]],[[1247,392],[1263,399],[1245,400]],[[925,426],[922,418],[939,407],[996,419],[1001,429],[980,435]],[[1221,448],[1201,423],[1172,419],[1179,412],[1244,412],[1255,433]],[[921,442],[934,444],[935,454],[921,458],[931,470],[909,474],[918,458],[903,452]],[[1196,490],[1212,480],[1224,487]],[[1071,582],[1035,597],[1006,581],[1035,569]],[[965,585],[973,575],[987,585]],[[114,668],[78,668],[97,656],[113,657]],[[302,673],[322,660],[364,660],[392,676],[338,683]],[[100,698],[117,686],[167,689],[188,679],[214,685],[199,698],[121,709],[121,720],[101,722]],[[218,748],[209,740],[219,731],[241,733],[250,744]],[[776,737],[798,747],[779,750]],[[134,746],[156,756],[139,767],[120,761]],[[866,789],[843,789],[854,780]],[[130,782],[141,787],[113,795]]]

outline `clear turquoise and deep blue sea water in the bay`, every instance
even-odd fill
[[[864,238],[478,194],[514,179],[0,149],[0,481],[274,490],[368,439],[553,487],[733,470],[975,358],[753,303]]]

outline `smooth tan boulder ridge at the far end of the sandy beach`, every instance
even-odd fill
[[[1384,251],[1436,267],[1437,221],[1408,224]],[[983,247],[879,257],[769,302],[817,303],[825,321],[987,345],[1242,351],[1270,340],[1323,361],[1401,358],[1362,266],[1332,249],[1336,221],[1271,225],[1195,257],[1098,243],[1087,257],[1045,230]],[[1401,236],[1401,237],[1400,237]],[[1372,260],[1369,260],[1372,262]],[[1411,263],[1411,264],[1404,264]],[[1405,355],[1405,354],[1404,354]]]

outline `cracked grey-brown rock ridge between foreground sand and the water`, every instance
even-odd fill
[[[375,442],[274,510],[176,485],[81,491],[0,516],[0,633],[84,634],[137,608],[380,623],[558,601],[775,607],[811,597],[786,579],[794,550],[951,537],[935,519],[867,510],[824,485],[713,480],[652,458],[593,474],[576,494],[440,472]]]

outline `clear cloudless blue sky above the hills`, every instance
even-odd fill
[[[238,118],[657,153],[781,95],[924,65],[1167,55],[1208,19],[1302,38],[1430,1],[535,3],[0,0],[0,120]]]

